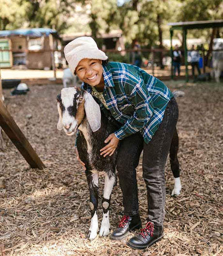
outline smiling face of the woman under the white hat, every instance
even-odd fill
[[[99,59],[80,60],[75,72],[82,82],[90,86],[97,86],[104,83],[102,61]]]

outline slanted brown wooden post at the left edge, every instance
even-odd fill
[[[35,150],[30,145],[29,141],[16,125],[16,122],[5,108],[2,101],[0,101],[0,126],[8,135],[13,144],[17,147],[31,168],[38,168],[42,170],[45,167]]]

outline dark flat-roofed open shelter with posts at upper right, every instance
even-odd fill
[[[186,21],[186,22],[175,22],[168,23],[170,28],[170,40],[171,40],[171,55],[173,63],[173,45],[172,39],[174,30],[182,30],[183,32],[183,42],[184,42],[184,58],[186,66],[186,82],[188,82],[188,61],[187,61],[187,31],[189,29],[204,29],[204,28],[220,28],[223,27],[223,19],[218,20],[203,20],[203,21]],[[171,77],[173,78],[173,64],[171,64]]]

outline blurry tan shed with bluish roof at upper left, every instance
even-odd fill
[[[62,61],[61,38],[49,28],[0,31],[0,67],[54,69]]]

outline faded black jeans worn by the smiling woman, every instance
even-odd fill
[[[178,120],[175,98],[169,101],[161,124],[146,144],[139,132],[120,141],[117,159],[119,183],[123,194],[125,215],[139,213],[136,167],[143,150],[143,178],[147,189],[148,220],[163,224],[165,216],[165,175],[167,155]]]

